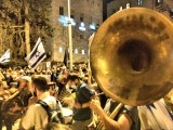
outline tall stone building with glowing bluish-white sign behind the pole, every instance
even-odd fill
[[[88,60],[89,37],[103,23],[103,0],[70,0],[74,62]],[[53,0],[54,38],[52,60],[62,62],[68,49],[68,0]]]

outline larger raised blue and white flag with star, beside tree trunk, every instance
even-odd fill
[[[39,38],[36,42],[35,48],[26,57],[26,61],[28,61],[28,66],[35,69],[45,57],[45,50],[41,42],[41,38]]]

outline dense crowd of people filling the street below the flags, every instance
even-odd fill
[[[63,121],[49,122],[48,113],[58,106]],[[106,96],[86,64],[36,70],[28,67],[0,70],[0,129],[12,130],[171,130],[173,92],[145,106],[129,106]]]

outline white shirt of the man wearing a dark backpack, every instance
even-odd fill
[[[39,100],[44,101],[51,108],[56,108],[56,100],[51,96],[49,92],[41,94]],[[26,114],[22,119],[22,126],[24,129],[41,130],[48,125],[48,114],[40,104],[32,104],[28,107]]]

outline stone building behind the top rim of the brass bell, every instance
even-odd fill
[[[106,15],[108,17],[119,10],[123,10],[127,8],[134,8],[134,6],[156,10],[172,21],[171,17],[171,11],[173,13],[172,0],[109,0],[106,6],[107,9]]]

